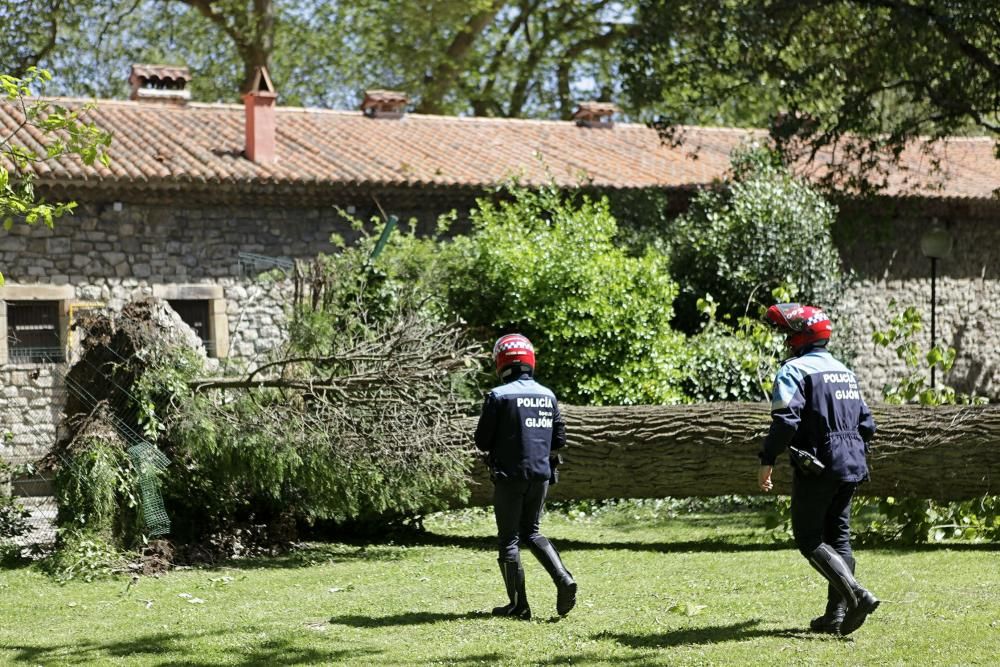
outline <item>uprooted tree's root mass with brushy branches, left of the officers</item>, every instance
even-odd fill
[[[341,530],[388,530],[464,492],[463,419],[473,406],[455,378],[476,372],[478,350],[455,324],[400,310],[339,332],[321,354],[278,350],[225,376],[210,375],[200,340],[158,299],[75,326],[82,354],[66,377],[64,436],[46,465],[65,469],[98,443],[129,452],[123,469],[139,465],[137,443],[170,459],[157,484],[169,536],[145,540],[112,522],[112,544],[142,544],[128,571],[275,555],[324,517]],[[190,375],[170,375],[172,360],[192,352],[201,361],[184,361]],[[126,477],[122,488],[133,483]],[[135,496],[122,515],[139,516]]]

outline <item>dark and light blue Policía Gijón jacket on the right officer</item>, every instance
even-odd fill
[[[786,447],[818,457],[823,475],[845,482],[868,479],[867,443],[875,420],[857,378],[825,348],[785,362],[774,378],[771,430],[760,461],[774,465]]]

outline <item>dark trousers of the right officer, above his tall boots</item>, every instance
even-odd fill
[[[792,535],[795,546],[809,557],[826,543],[845,560],[851,553],[851,498],[857,482],[826,477],[792,477]]]

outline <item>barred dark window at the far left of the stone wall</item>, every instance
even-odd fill
[[[66,359],[59,301],[7,302],[7,356],[11,363],[61,363]]]

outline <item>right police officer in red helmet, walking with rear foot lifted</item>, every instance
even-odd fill
[[[879,605],[854,578],[850,533],[851,498],[868,479],[875,420],[854,373],[826,350],[833,327],[823,311],[781,303],[768,308],[765,319],[785,334],[792,356],[774,380],[758,482],[771,490],[772,466],[787,447],[795,544],[829,582],[826,611],[810,627],[849,635]]]

